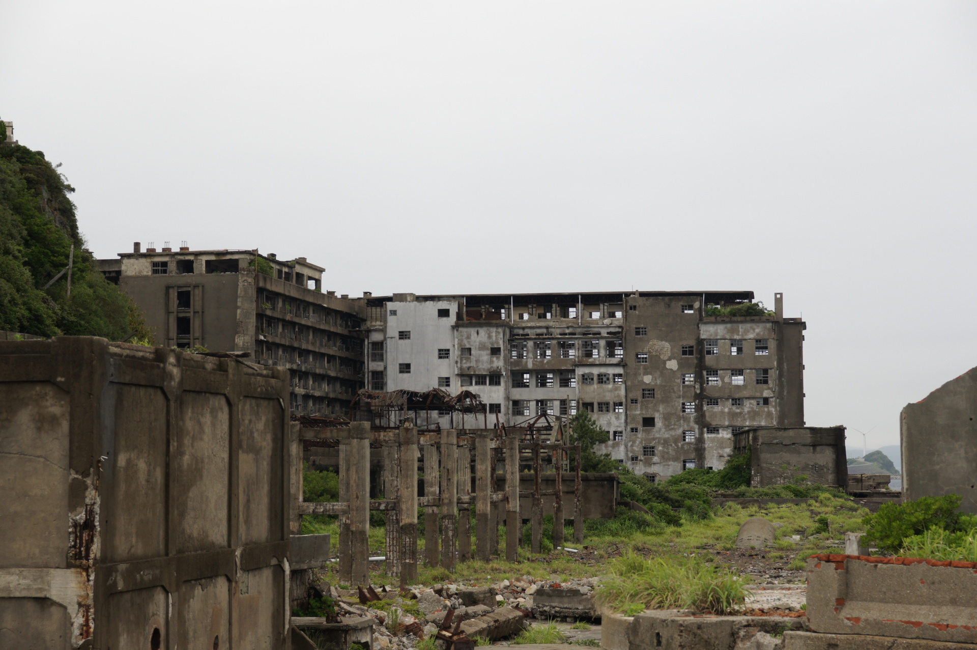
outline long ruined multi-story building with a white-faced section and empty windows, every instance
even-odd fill
[[[706,316],[752,291],[364,294],[372,390],[468,389],[489,418],[593,412],[639,474],[722,467],[733,434],[803,426],[804,323]],[[446,418],[445,418],[446,419]],[[447,421],[442,426],[447,426]]]

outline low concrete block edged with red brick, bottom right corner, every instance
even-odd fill
[[[977,643],[977,564],[813,555],[807,563],[813,631]]]

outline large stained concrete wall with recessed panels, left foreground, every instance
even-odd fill
[[[0,367],[0,647],[285,647],[285,370],[93,337]]]

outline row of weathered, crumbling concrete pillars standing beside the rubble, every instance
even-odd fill
[[[564,462],[575,451],[573,468],[573,539],[583,541],[580,454],[578,446],[524,442],[527,430],[464,429],[418,434],[407,422],[398,430],[370,433],[368,422],[352,422],[334,430],[339,438],[338,503],[301,503],[300,514],[339,515],[339,582],[369,582],[369,512],[386,512],[386,573],[402,585],[417,580],[418,508],[424,508],[424,557],[429,566],[453,571],[457,561],[486,560],[500,554],[501,526],[506,526],[505,556],[514,561],[523,535],[520,497],[531,498],[531,551],[542,545],[543,497],[553,497],[553,543],[565,537]],[[384,498],[370,500],[370,442],[383,448],[381,486]],[[472,453],[475,494],[471,493]],[[520,453],[532,457],[533,485],[520,491]],[[540,488],[542,456],[549,455],[556,470],[556,489]],[[418,460],[424,472],[424,496],[418,487]],[[497,491],[497,465],[505,467],[505,490]],[[471,508],[475,506],[475,548],[472,548]],[[514,525],[509,525],[510,523]]]

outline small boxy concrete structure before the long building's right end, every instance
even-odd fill
[[[751,484],[787,485],[798,476],[811,483],[848,485],[845,427],[771,427],[736,435],[738,450],[750,450]]]

